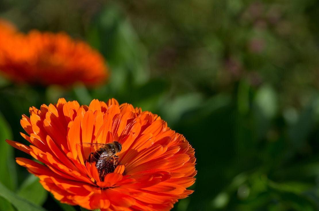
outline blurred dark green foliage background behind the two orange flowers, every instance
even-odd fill
[[[106,58],[105,85],[0,80],[0,181],[47,210],[61,205],[4,142],[21,114],[59,97],[116,98],[159,114],[197,157],[195,192],[174,211],[319,210],[316,0],[0,0],[21,31],[64,31]],[[7,172],[7,173],[4,173]],[[1,210],[14,210],[0,199]]]

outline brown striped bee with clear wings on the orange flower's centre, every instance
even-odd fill
[[[118,156],[116,153],[120,152],[122,145],[113,141],[107,144],[101,143],[78,143],[81,147],[90,148],[95,151],[91,152],[86,162],[95,162],[96,169],[99,172],[100,180],[103,181],[106,174],[114,172],[117,165],[119,165]]]

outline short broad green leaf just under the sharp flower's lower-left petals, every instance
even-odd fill
[[[48,197],[48,192],[40,184],[39,178],[34,175],[26,178],[17,194],[37,205],[42,205]]]

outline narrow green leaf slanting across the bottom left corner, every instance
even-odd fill
[[[14,207],[18,209],[18,211],[46,211],[44,208],[21,198],[6,188],[2,183],[0,183],[0,196],[8,200]]]

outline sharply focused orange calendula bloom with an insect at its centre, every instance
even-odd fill
[[[29,111],[30,117],[21,119],[27,134],[21,135],[31,145],[7,142],[44,164],[16,158],[63,203],[102,211],[160,211],[193,192],[186,188],[197,173],[194,149],[158,115],[114,99],[80,106],[61,98]],[[95,149],[84,143],[113,141],[122,149],[101,175],[96,163],[88,162]]]

